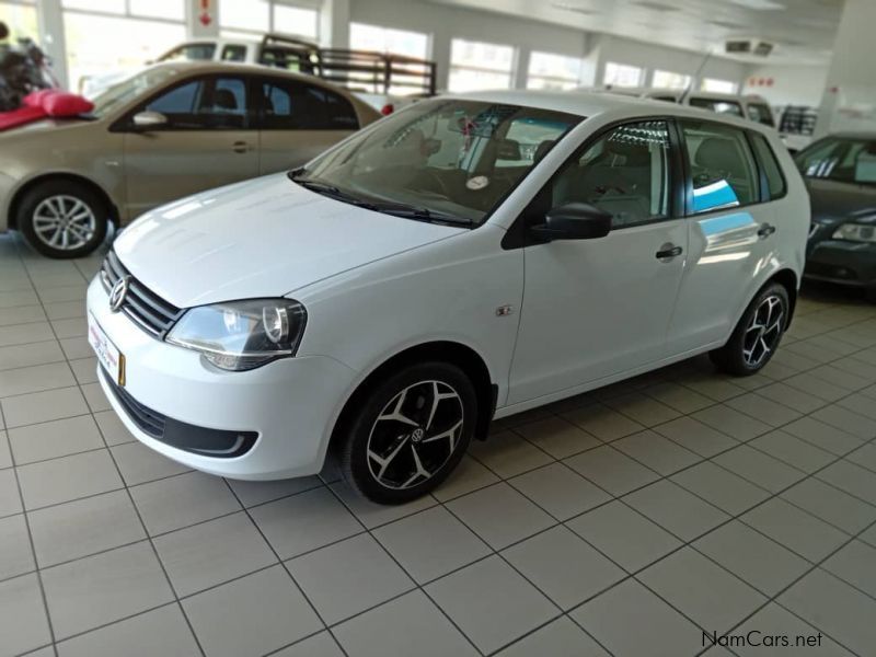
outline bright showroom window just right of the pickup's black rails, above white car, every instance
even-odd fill
[[[454,38],[450,44],[450,91],[510,89],[514,47]]]

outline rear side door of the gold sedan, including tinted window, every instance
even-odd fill
[[[255,89],[263,174],[300,166],[359,129],[353,104],[324,87],[265,77]]]

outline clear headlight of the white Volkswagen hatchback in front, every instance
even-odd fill
[[[232,301],[186,311],[166,341],[200,351],[216,367],[243,371],[295,356],[306,323],[298,301]]]

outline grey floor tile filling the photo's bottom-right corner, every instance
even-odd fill
[[[871,654],[876,645],[876,600],[825,570],[809,573],[779,603],[858,655]]]

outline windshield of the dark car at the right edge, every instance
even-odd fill
[[[876,136],[872,139],[828,137],[796,158],[806,177],[842,183],[876,184]]]

